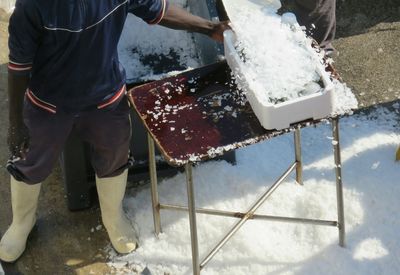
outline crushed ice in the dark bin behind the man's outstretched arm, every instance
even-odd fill
[[[180,7],[187,6],[187,0],[172,0]],[[128,83],[158,80],[201,65],[192,34],[171,30],[159,25],[148,25],[142,19],[128,15],[118,45],[120,61],[125,68]],[[164,58],[164,60],[162,60]],[[177,67],[169,72],[155,71],[152,63],[171,62]],[[165,62],[164,62],[165,63]]]

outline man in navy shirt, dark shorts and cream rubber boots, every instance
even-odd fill
[[[227,28],[167,0],[17,0],[8,66],[13,221],[0,242],[1,260],[13,262],[25,250],[41,182],[72,128],[90,144],[102,220],[113,247],[119,253],[137,247],[122,210],[130,121],[117,43],[128,13],[217,41]]]

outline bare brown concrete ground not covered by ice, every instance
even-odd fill
[[[339,55],[335,66],[353,88],[361,107],[400,102],[400,4],[387,1],[338,1]],[[365,4],[367,2],[367,4]],[[379,3],[385,2],[385,3]],[[7,21],[0,10],[0,235],[11,222],[7,135]],[[400,119],[399,119],[400,121]],[[2,263],[7,274],[113,274],[105,263],[107,234],[100,228],[98,206],[67,209],[60,168],[43,185],[37,226],[23,256],[14,264]],[[96,229],[97,228],[97,229]]]

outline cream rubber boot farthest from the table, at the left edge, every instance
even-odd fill
[[[41,183],[29,185],[11,177],[13,221],[0,242],[0,259],[16,261],[25,251],[26,240],[36,222]]]

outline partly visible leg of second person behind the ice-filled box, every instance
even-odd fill
[[[336,0],[295,0],[297,21],[323,49],[333,51],[336,33]]]

